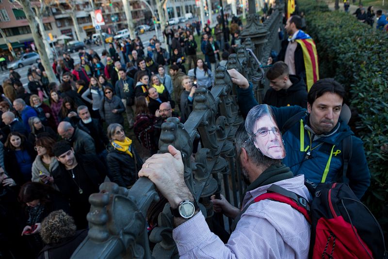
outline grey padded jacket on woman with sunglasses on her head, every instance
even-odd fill
[[[116,109],[117,113],[112,113],[112,110]],[[112,123],[118,123],[124,125],[123,113],[125,112],[124,103],[117,96],[113,96],[112,100],[109,100],[107,97],[100,103],[100,108],[98,109],[100,116],[105,120],[107,125]]]

